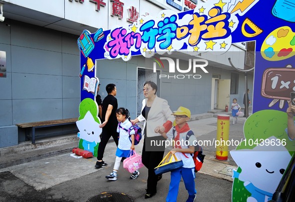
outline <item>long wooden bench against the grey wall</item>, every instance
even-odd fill
[[[78,118],[65,118],[65,119],[58,119],[58,120],[46,120],[46,121],[37,121],[37,122],[29,122],[29,123],[17,123],[16,126],[25,129],[25,137],[30,138],[32,140],[32,144],[35,144],[35,129],[36,128],[43,128],[43,127],[52,127],[58,125],[69,125],[74,124]],[[31,136],[29,135],[30,130],[32,131]],[[78,129],[70,130],[70,131],[60,131],[55,133],[43,134],[38,135],[38,137],[48,137],[52,135],[60,135],[60,134],[69,134],[78,132]]]

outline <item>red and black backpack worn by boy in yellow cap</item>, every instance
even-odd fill
[[[173,139],[175,137],[175,127],[173,127]],[[190,136],[194,135],[193,131],[188,131],[186,134],[186,140],[188,141],[190,139]],[[202,166],[203,166],[203,162],[204,162],[204,158],[205,158],[205,154],[203,154],[203,149],[200,145],[196,145],[195,146],[195,152],[193,154],[191,154],[193,156],[193,160],[195,163],[195,173],[197,173],[198,171],[201,170]]]

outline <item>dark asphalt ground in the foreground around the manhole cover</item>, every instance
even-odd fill
[[[120,192],[127,194],[134,202],[165,202],[170,183],[169,174],[165,174],[163,179],[159,181],[158,193],[150,199],[144,199],[146,188],[145,173],[141,173],[136,180],[128,179],[127,175],[122,175],[122,178],[125,179],[108,182],[95,172],[58,184],[49,189],[36,191],[32,186],[24,183],[10,172],[2,172],[0,173],[0,187],[2,187],[2,189],[0,189],[0,201],[86,202],[88,199],[102,192]],[[196,202],[231,201],[232,182],[201,173],[197,173],[195,182],[197,189]],[[185,190],[183,182],[181,182],[177,201],[185,202],[186,199],[187,191]]]

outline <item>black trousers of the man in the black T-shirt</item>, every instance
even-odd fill
[[[118,146],[119,140],[118,140],[117,127],[111,127],[111,128],[104,128],[103,127],[100,143],[98,145],[98,150],[97,150],[97,160],[102,160],[105,146],[111,136],[113,137],[116,145]]]

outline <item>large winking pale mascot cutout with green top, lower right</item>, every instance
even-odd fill
[[[261,110],[247,118],[245,141],[230,152],[239,166],[233,171],[232,202],[272,199],[295,151],[286,128],[283,111]]]

